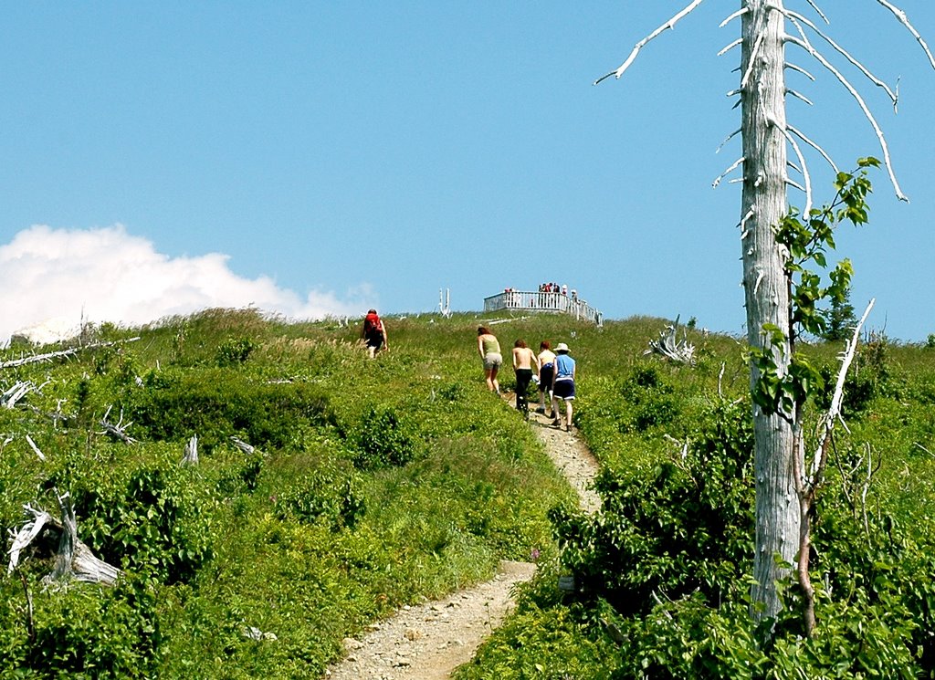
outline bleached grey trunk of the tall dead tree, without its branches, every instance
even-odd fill
[[[747,340],[751,347],[767,342],[768,324],[786,338],[774,348],[780,375],[790,359],[789,291],[785,254],[775,227],[788,211],[783,0],[748,0],[742,16],[741,137],[743,191],[741,246]],[[758,372],[751,366],[754,390]],[[788,571],[780,560],[796,559],[799,508],[793,475],[795,455],[790,413],[766,415],[754,407],[756,470],[755,619],[781,609],[776,581]]]

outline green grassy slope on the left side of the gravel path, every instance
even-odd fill
[[[370,361],[356,328],[212,310],[4,369],[0,389],[36,390],[0,409],[0,525],[25,503],[58,517],[67,492],[126,578],[47,590],[40,545],[0,579],[0,675],[317,677],[368,622],[548,551],[546,512],[574,496],[486,391],[476,324],[388,319]]]

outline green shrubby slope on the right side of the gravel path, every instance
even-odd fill
[[[935,349],[865,338],[813,520],[818,628],[804,637],[787,584],[786,615],[760,648],[742,347],[689,333],[696,365],[643,356],[659,325],[582,333],[576,418],[604,466],[604,512],[551,514],[561,558],[540,565],[516,616],[459,680],[935,676]],[[804,347],[827,376],[808,404],[813,424],[841,345]],[[556,588],[560,574],[575,592]]]

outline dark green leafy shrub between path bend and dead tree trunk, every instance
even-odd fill
[[[752,560],[753,432],[742,404],[712,404],[683,452],[634,475],[597,478],[603,511],[552,513],[563,562],[583,596],[622,614],[646,613],[653,595],[734,593]]]

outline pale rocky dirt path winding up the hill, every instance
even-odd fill
[[[578,491],[582,508],[595,512],[600,499],[589,486],[597,460],[575,432],[554,428],[550,418],[530,414],[529,425],[555,466]],[[370,626],[360,640],[344,641],[347,656],[330,668],[328,680],[446,680],[467,663],[483,640],[510,613],[515,587],[532,578],[528,562],[500,562],[490,581],[453,593],[444,600],[405,606],[395,616]]]

